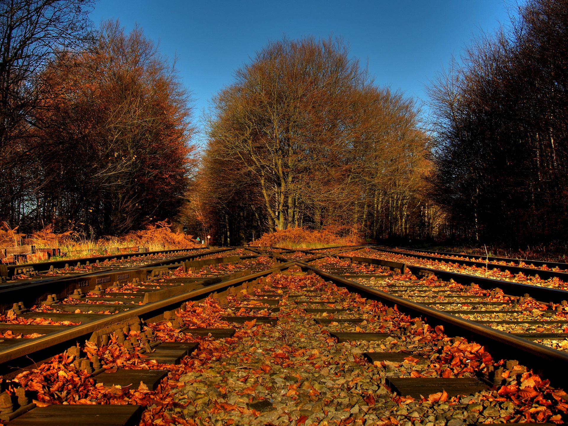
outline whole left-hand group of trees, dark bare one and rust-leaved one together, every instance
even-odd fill
[[[20,231],[118,235],[185,200],[189,95],[139,28],[94,30],[92,6],[0,6],[0,219]]]

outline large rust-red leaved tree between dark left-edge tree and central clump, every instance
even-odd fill
[[[30,215],[116,234],[171,218],[195,167],[189,94],[140,28],[105,22],[96,43],[57,57],[42,78],[31,143]]]

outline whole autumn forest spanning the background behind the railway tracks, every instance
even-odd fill
[[[568,1],[519,6],[427,103],[378,85],[341,37],[272,40],[211,99],[205,145],[191,82],[140,28],[95,27],[93,6],[2,3],[6,227],[565,245]]]

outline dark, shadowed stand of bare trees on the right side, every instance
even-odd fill
[[[568,237],[568,2],[531,0],[430,89],[431,195],[447,237],[562,244]]]

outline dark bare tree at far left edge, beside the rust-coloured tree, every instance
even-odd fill
[[[90,0],[3,0],[0,5],[0,212],[19,222],[20,198],[35,184],[25,141],[36,126],[43,90],[40,74],[61,52],[90,37]]]

